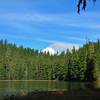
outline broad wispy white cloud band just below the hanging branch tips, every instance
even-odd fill
[[[98,13],[89,13],[87,16],[77,15],[77,14],[39,14],[39,13],[2,13],[0,19],[9,21],[19,21],[19,22],[43,22],[56,24],[66,27],[76,27],[76,28],[89,28],[89,29],[100,29],[100,24],[97,20]],[[74,17],[73,17],[74,16]],[[100,16],[100,14],[98,14]],[[92,19],[90,19],[92,17]]]

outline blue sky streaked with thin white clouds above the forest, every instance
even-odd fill
[[[100,39],[100,0],[0,0],[0,39],[38,50],[71,49]]]

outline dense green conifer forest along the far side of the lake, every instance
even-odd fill
[[[93,81],[99,78],[99,40],[54,56],[0,40],[0,80]]]

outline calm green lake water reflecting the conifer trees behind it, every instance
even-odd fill
[[[83,82],[60,81],[0,81],[0,96],[31,91],[57,91],[71,89],[85,89]]]

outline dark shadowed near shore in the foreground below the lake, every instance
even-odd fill
[[[100,100],[100,89],[22,92],[4,100]]]

